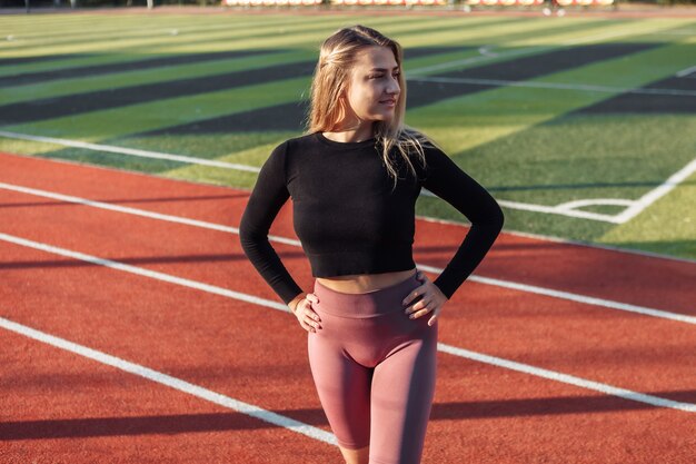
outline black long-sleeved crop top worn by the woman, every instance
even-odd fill
[[[374,138],[338,142],[315,132],[272,150],[241,217],[239,237],[249,260],[286,304],[302,289],[268,241],[268,231],[288,198],[312,276],[379,274],[416,267],[415,205],[421,187],[471,223],[459,249],[434,280],[451,297],[498,236],[503,211],[447,155],[432,146],[424,148],[426,167],[412,159],[417,178],[400,156],[392,158],[399,172],[394,191],[394,178]]]

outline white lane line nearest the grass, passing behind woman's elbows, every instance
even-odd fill
[[[69,196],[69,195],[54,194],[54,192],[50,192],[50,191],[46,191],[46,190],[39,190],[39,189],[33,189],[33,188],[28,188],[28,187],[13,186],[13,185],[10,185],[10,184],[4,184],[4,182],[0,182],[0,188],[7,189],[7,190],[12,190],[12,191],[19,191],[19,192],[28,194],[28,195],[34,195],[34,196],[51,198],[51,199],[61,200],[61,201],[73,203],[73,204],[78,204],[78,205],[90,206],[90,207],[93,207],[93,208],[102,208],[102,209],[108,209],[108,210],[111,210],[111,211],[118,211],[118,213],[125,213],[125,214],[141,216],[141,217],[146,217],[146,218],[150,218],[150,219],[163,220],[163,221],[176,223],[176,224],[183,224],[183,225],[188,225],[188,226],[200,227],[200,228],[205,228],[205,229],[218,230],[218,231],[223,231],[223,233],[239,235],[239,229],[238,228],[223,226],[223,225],[215,224],[215,223],[208,223],[208,221],[195,220],[195,219],[187,219],[187,218],[182,218],[182,217],[179,217],[179,216],[165,215],[165,214],[160,214],[160,213],[151,213],[151,211],[147,211],[145,209],[131,208],[131,207],[119,206],[119,205],[111,205],[111,204],[101,203],[101,201],[95,201],[95,200],[87,200],[87,199],[83,199],[83,198],[80,198],[80,197],[73,197],[73,196]],[[291,245],[291,246],[296,246],[298,248],[301,248],[301,246],[302,246],[299,240],[296,240],[296,239],[292,239],[292,238],[280,237],[280,236],[276,236],[276,235],[269,235],[268,239],[269,239],[269,241],[280,243],[280,244],[285,244],[285,245]],[[80,259],[80,258],[78,258],[78,259]],[[127,265],[123,265],[123,266],[127,266]],[[427,270],[429,273],[434,273],[434,274],[440,274],[443,272],[443,268],[435,267],[435,266],[428,266],[428,265],[425,265],[425,264],[417,264],[417,267],[420,268],[420,269]],[[136,268],[136,269],[139,269],[139,268]],[[614,302],[614,300],[610,300],[610,299],[595,298],[595,297],[585,296],[585,295],[578,295],[578,294],[574,294],[574,293],[569,293],[569,292],[555,290],[555,289],[551,289],[551,288],[538,287],[538,286],[527,285],[527,284],[518,284],[518,283],[515,283],[515,282],[496,279],[496,278],[490,278],[490,277],[480,277],[480,276],[476,276],[476,275],[469,276],[468,279],[473,280],[473,282],[477,282],[479,284],[493,285],[493,286],[504,287],[504,288],[511,288],[511,289],[516,289],[516,290],[524,292],[524,293],[533,293],[533,294],[536,294],[536,295],[545,295],[545,296],[550,296],[550,297],[554,297],[554,298],[567,299],[567,300],[577,302],[577,303],[585,303],[585,304],[588,304],[588,305],[601,306],[601,307],[612,308],[612,309],[626,310],[626,312],[629,312],[629,313],[642,314],[642,315],[645,315],[645,316],[660,317],[660,318],[664,318],[664,319],[676,320],[676,322],[680,322],[680,323],[696,324],[696,317],[695,316],[687,316],[687,315],[684,315],[684,314],[678,314],[678,313],[673,313],[673,312],[667,312],[667,310],[662,310],[662,309],[654,309],[654,308],[649,308],[649,307],[645,307],[645,306],[630,305],[630,304],[627,304],[627,303]],[[278,307],[278,309],[288,309],[288,308],[282,306],[282,305],[280,305]]]

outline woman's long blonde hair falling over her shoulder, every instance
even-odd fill
[[[345,117],[347,101],[340,98],[341,92],[350,80],[358,52],[372,46],[389,48],[394,52],[397,65],[401,66],[404,58],[401,46],[365,26],[357,24],[339,29],[324,41],[311,81],[306,134],[331,131]],[[391,148],[397,148],[396,151],[406,161],[414,176],[417,176],[410,154],[415,154],[425,167],[424,145],[435,146],[432,140],[404,124],[406,112],[404,72],[399,72],[397,80],[400,95],[394,109],[394,117],[387,121],[375,121],[372,125],[376,142],[381,145],[384,164],[389,175],[394,177],[395,188],[398,174],[396,161],[389,156]]]

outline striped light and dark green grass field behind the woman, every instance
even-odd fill
[[[319,45],[355,23],[404,46],[407,124],[491,191],[506,230],[696,259],[689,18],[0,17],[0,150],[251,188],[253,171],[112,147],[260,167],[302,134]],[[463,221],[429,196],[418,214]]]

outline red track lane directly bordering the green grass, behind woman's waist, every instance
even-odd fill
[[[0,181],[229,226],[238,225],[249,195],[248,191],[64,161],[0,155],[0,162],[3,166]],[[39,197],[27,201],[28,205],[62,205]],[[296,238],[288,206],[274,230]],[[417,220],[415,256],[443,267],[464,234],[466,228],[460,225]],[[296,251],[301,254],[300,248]],[[504,233],[476,274],[696,315],[693,304],[696,288],[692,285],[696,279],[694,263]]]

